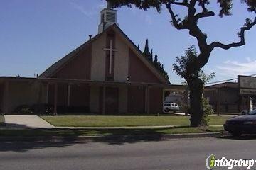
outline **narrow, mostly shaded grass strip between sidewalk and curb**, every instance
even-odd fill
[[[175,127],[175,128],[151,128],[151,129],[106,129],[106,130],[42,130],[42,129],[23,129],[23,130],[0,130],[0,136],[111,136],[111,135],[166,135],[178,133],[202,133],[202,132],[223,132],[223,127],[214,128],[190,128],[190,127]]]

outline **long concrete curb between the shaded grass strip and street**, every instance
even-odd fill
[[[228,132],[209,132],[209,133],[189,133],[189,134],[170,134],[170,135],[109,135],[109,136],[1,136],[1,142],[105,142],[105,141],[157,141],[182,138],[199,137],[224,137]]]

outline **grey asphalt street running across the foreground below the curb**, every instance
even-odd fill
[[[255,136],[87,143],[0,142],[0,169],[200,170],[206,169],[206,157],[210,154],[227,159],[256,159],[255,145]]]

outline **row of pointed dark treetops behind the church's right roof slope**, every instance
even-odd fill
[[[144,55],[144,57],[146,57],[147,60],[149,60],[149,62],[151,64],[154,65],[154,67],[156,69],[159,70],[159,72],[164,76],[164,78],[167,81],[169,81],[169,76],[168,76],[167,72],[164,70],[164,64],[161,64],[161,62],[159,62],[158,56],[155,55],[154,60],[153,60],[153,55],[154,55],[153,49],[151,49],[151,52],[149,52],[149,40],[148,39],[146,39],[143,55]]]

